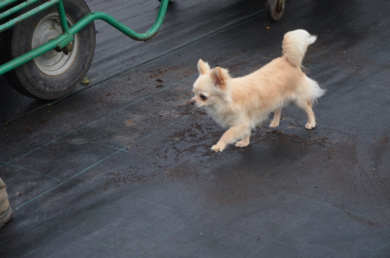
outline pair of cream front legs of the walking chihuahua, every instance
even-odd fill
[[[215,152],[223,151],[228,144],[234,143],[239,139],[245,139],[249,144],[249,137],[251,135],[251,130],[247,125],[232,126],[227,130],[218,140],[218,142],[211,147]],[[247,146],[246,144],[245,146]],[[245,147],[239,146],[239,147]]]

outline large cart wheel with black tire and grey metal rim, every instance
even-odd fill
[[[37,5],[44,2],[46,0],[40,0]],[[83,0],[66,0],[63,4],[69,27],[91,12]],[[36,5],[31,8],[34,7]],[[57,7],[52,6],[5,32],[6,60],[13,60],[62,33]],[[50,50],[4,77],[23,95],[34,99],[58,99],[72,92],[84,78],[94,56],[95,42],[95,24],[91,22],[74,35],[68,55]]]

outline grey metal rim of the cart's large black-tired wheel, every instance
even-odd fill
[[[31,42],[32,49],[47,43],[49,40],[56,39],[62,34],[62,28],[61,25],[58,24],[58,20],[58,13],[51,13],[39,21],[33,33]],[[66,20],[69,26],[75,24],[68,16],[66,16]],[[50,50],[35,58],[34,63],[39,71],[49,76],[57,76],[68,70],[76,60],[79,48],[78,33],[75,34],[73,38],[74,40],[71,42],[73,46],[72,51],[70,51],[68,55],[65,55],[63,52]]]

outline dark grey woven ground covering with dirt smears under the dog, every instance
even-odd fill
[[[59,101],[0,78],[0,257],[389,258],[390,4],[291,0],[271,22],[265,2],[175,0],[148,42],[97,21],[93,83]],[[137,32],[159,5],[87,3]],[[197,60],[246,75],[294,29],[317,35],[317,126],[288,106],[213,153],[224,130],[188,104]]]

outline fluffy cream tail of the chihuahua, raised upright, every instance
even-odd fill
[[[286,57],[294,66],[301,66],[308,46],[317,39],[306,30],[294,30],[287,32],[283,39],[283,57]]]

